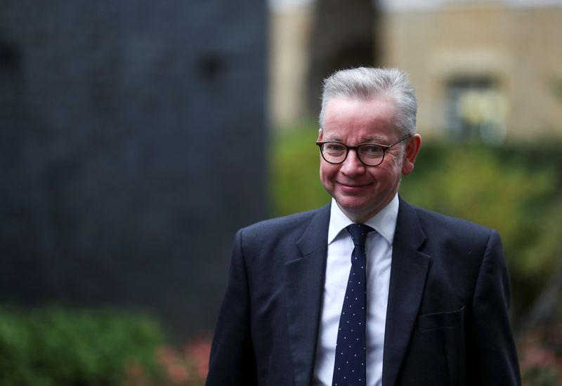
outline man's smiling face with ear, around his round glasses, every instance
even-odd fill
[[[370,100],[337,98],[329,100],[321,141],[391,145],[402,138],[394,126],[394,103],[386,98]],[[320,157],[320,180],[341,211],[354,222],[365,222],[379,213],[398,192],[402,175],[409,174],[419,149],[419,135],[386,151],[379,166],[366,166],[350,150],[341,164],[329,164]]]

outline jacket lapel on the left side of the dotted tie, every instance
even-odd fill
[[[300,255],[285,263],[289,342],[296,386],[310,385],[326,272],[329,206],[320,209],[297,241]]]

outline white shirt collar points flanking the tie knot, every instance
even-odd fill
[[[376,230],[386,242],[388,242],[388,245],[392,245],[394,240],[394,231],[396,230],[396,220],[398,218],[398,206],[398,193],[396,193],[387,206],[365,222],[365,225],[369,225]],[[338,237],[340,232],[351,224],[353,224],[353,221],[347,218],[338,204],[336,204],[336,200],[332,199],[328,227],[328,244],[332,244],[332,241]]]

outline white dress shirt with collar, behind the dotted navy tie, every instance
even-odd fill
[[[380,386],[392,243],[398,218],[398,194],[377,215],[365,222],[376,232],[367,234],[367,386]],[[346,231],[353,224],[332,199],[328,255],[313,385],[332,385],[339,316],[351,269],[353,241]]]

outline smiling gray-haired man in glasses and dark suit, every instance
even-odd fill
[[[521,383],[499,235],[398,196],[416,110],[397,69],[325,80],[332,203],[237,232],[208,386]]]

